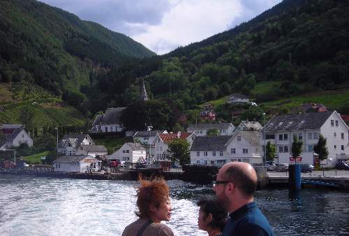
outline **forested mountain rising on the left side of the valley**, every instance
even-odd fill
[[[113,66],[154,55],[128,36],[45,3],[0,1],[0,82],[26,80],[67,96]]]

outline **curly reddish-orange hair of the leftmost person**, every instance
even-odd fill
[[[166,197],[168,198],[169,194],[170,189],[164,179],[153,179],[151,181],[141,179],[137,191],[138,212],[135,212],[135,214],[142,219],[152,219],[149,211],[151,203],[157,208]],[[154,219],[152,220],[154,221]]]

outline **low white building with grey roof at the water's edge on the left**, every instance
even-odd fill
[[[54,172],[86,172],[101,170],[101,161],[93,156],[61,156],[53,161]]]

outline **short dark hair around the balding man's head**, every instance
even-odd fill
[[[242,168],[232,165],[225,170],[223,175],[225,180],[235,184],[246,197],[253,196],[255,189],[257,189],[257,182]]]

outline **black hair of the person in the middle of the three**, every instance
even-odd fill
[[[208,214],[212,214],[212,221],[209,223],[209,227],[223,230],[228,213],[218,204],[217,198],[202,198],[197,205],[200,207],[201,212],[206,214],[206,217]]]

